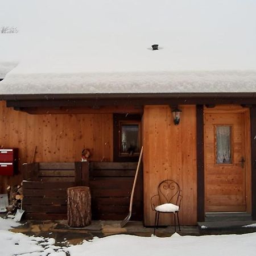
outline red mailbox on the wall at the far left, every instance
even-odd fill
[[[0,149],[0,175],[14,175],[18,171],[18,148]]]

